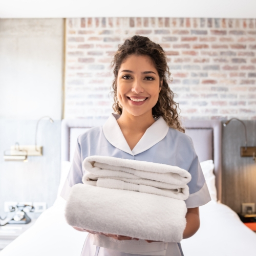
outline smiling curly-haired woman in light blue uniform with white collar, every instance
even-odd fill
[[[199,206],[209,202],[210,196],[193,143],[178,120],[177,104],[167,84],[170,73],[166,55],[160,45],[147,37],[133,36],[119,46],[113,67],[115,114],[102,127],[94,127],[78,137],[62,197],[67,198],[74,184],[82,183],[82,161],[91,155],[179,166],[192,176],[183,233],[184,239],[189,238],[200,225]],[[180,243],[144,241],[74,228],[90,232],[81,255],[183,255]]]

